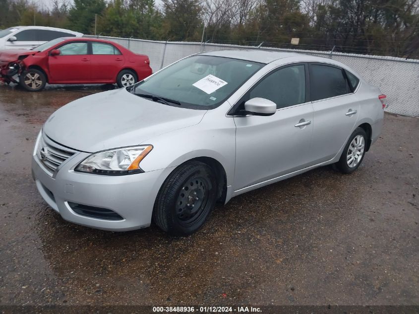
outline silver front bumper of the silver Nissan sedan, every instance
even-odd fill
[[[89,153],[76,153],[51,176],[38,156],[32,156],[32,176],[44,200],[61,217],[82,226],[128,231],[148,227],[154,201],[171,168],[125,176],[105,176],[75,172],[73,169]],[[87,217],[76,213],[69,203],[107,208],[121,220]]]

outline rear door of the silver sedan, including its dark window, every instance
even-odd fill
[[[358,120],[359,102],[342,68],[328,63],[310,63],[309,68],[315,121],[310,154],[318,164],[345,145]]]

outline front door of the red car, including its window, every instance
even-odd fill
[[[70,42],[58,48],[58,56],[48,56],[50,84],[76,84],[92,81],[87,42]]]

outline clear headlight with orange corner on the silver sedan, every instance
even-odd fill
[[[99,175],[129,175],[144,172],[139,164],[152,149],[153,145],[144,145],[97,152],[83,160],[74,170]]]

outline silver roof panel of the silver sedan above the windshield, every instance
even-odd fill
[[[218,50],[218,51],[204,52],[200,55],[234,58],[234,59],[241,59],[241,60],[259,62],[259,63],[271,63],[278,59],[301,56],[301,54],[298,54],[298,53],[279,52],[279,51],[263,50],[263,49]]]

